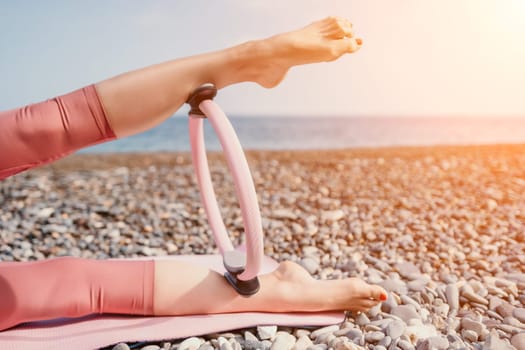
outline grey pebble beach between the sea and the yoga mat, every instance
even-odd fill
[[[389,291],[320,329],[263,326],[127,350],[525,349],[525,145],[248,151],[265,253]],[[209,156],[232,241],[221,153]],[[81,154],[0,182],[0,259],[217,253],[189,153]]]

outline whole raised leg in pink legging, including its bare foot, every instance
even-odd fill
[[[356,51],[351,24],[327,18],[265,40],[177,59],[73,93],[0,113],[0,179],[79,148],[147,130],[203,83],[277,85],[290,67]]]

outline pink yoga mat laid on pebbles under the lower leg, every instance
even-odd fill
[[[181,255],[159,259],[179,259],[224,272],[221,255]],[[261,273],[273,271],[276,266],[276,261],[264,257]],[[185,338],[257,325],[324,326],[340,323],[343,319],[342,312],[254,312],[177,317],[93,315],[27,323],[0,332],[0,349],[96,349],[118,342]]]

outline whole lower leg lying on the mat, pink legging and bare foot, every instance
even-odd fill
[[[245,298],[218,273],[173,260],[0,263],[0,330],[22,322],[101,313],[363,311],[386,299],[380,287],[355,278],[315,280],[291,262],[261,276],[260,282],[260,291]]]

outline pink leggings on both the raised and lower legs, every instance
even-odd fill
[[[0,179],[112,140],[94,85],[0,112]],[[153,261],[0,262],[0,330],[92,313],[153,313]]]

